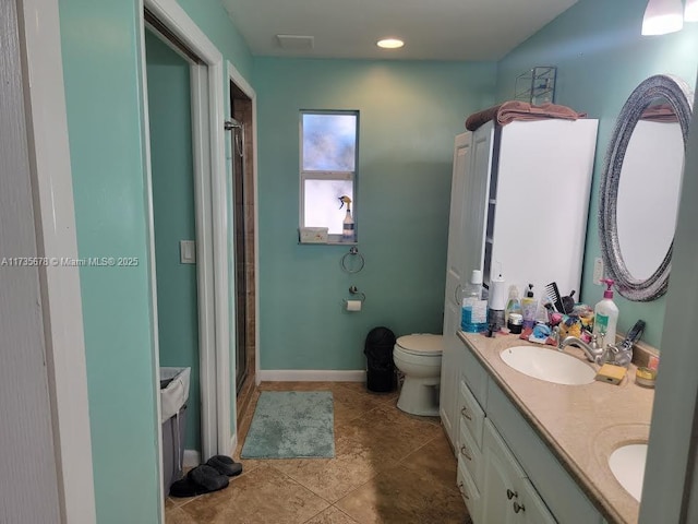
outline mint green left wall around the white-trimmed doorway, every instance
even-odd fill
[[[251,81],[252,57],[220,3],[182,4]],[[81,269],[100,524],[159,522],[140,5],[59,2],[79,252],[140,259],[137,267]]]

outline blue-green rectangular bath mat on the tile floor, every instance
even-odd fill
[[[241,457],[333,457],[334,419],[330,391],[263,391]]]

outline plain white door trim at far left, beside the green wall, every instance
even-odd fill
[[[37,254],[77,260],[57,0],[16,0]],[[61,519],[96,520],[80,269],[39,267]]]

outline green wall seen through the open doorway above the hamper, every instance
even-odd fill
[[[189,63],[145,33],[160,366],[191,367],[188,450],[201,451],[196,265],[179,241],[196,238]]]

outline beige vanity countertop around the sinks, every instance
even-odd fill
[[[520,373],[500,357],[503,349],[529,342],[516,335],[488,338],[459,332],[459,336],[603,516],[609,522],[636,523],[639,503],[609,467],[615,449],[649,438],[654,390],[635,383],[635,366],[619,385],[554,384]],[[577,347],[565,353],[585,359]]]

